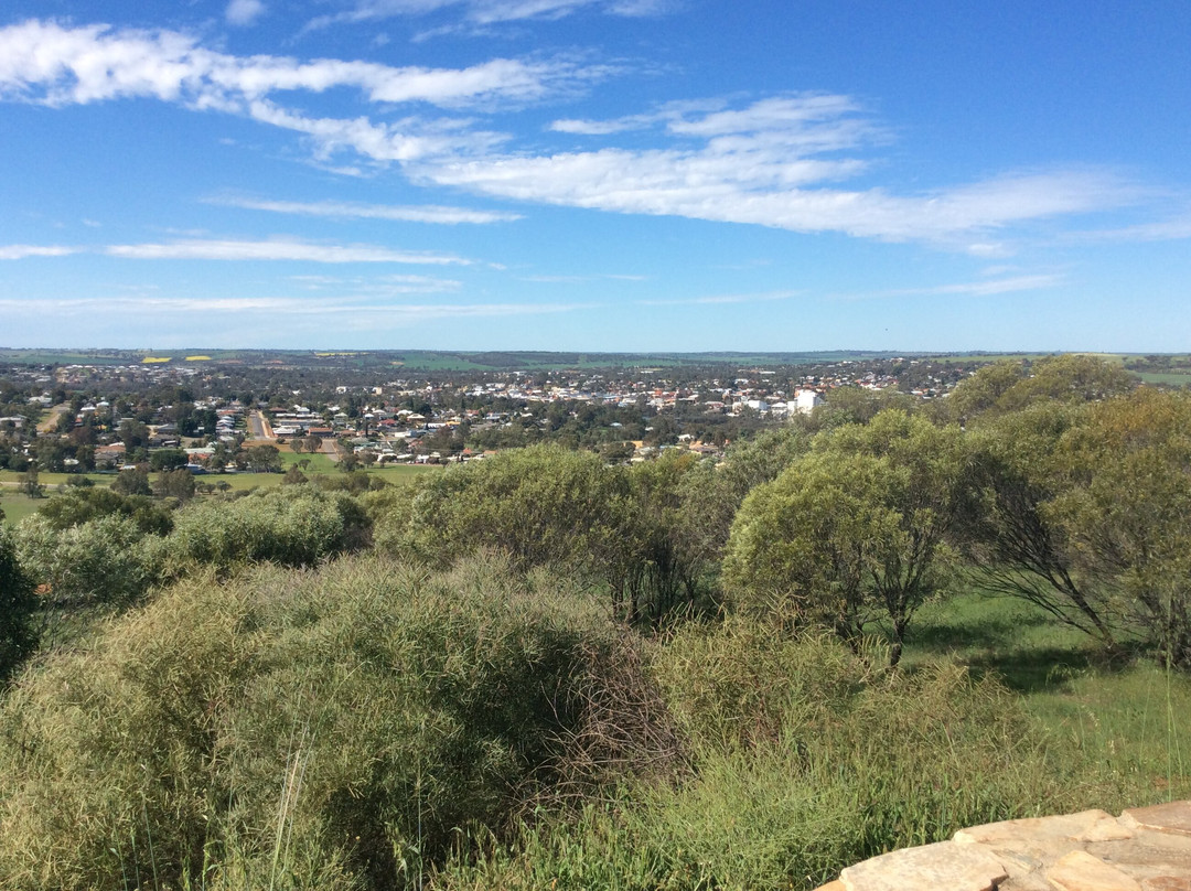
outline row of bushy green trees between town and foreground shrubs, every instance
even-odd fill
[[[747,612],[854,647],[883,635],[894,662],[923,603],[974,585],[1187,667],[1189,471],[1191,398],[1060,356],[987,366],[936,403],[840,393],[722,462],[535,446],[410,486],[331,484],[358,497],[324,481],[176,510],[145,486],[77,488],[2,542],[56,603],[135,599],[206,563],[499,552],[586,580],[632,625]]]

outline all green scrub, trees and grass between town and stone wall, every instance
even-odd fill
[[[807,889],[1191,796],[1189,468],[1068,356],[721,463],[75,488],[0,528],[0,886]]]

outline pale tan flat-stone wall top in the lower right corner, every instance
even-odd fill
[[[1191,802],[961,829],[849,866],[819,891],[1191,891]]]

